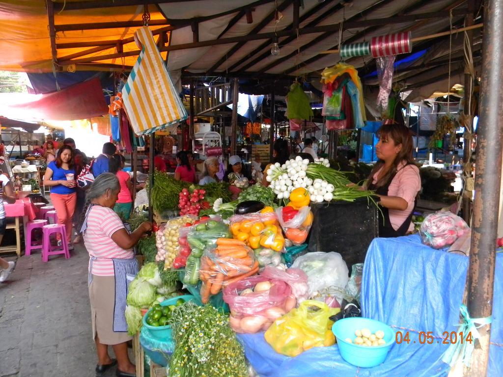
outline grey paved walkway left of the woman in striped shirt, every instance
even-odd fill
[[[68,260],[56,255],[47,263],[38,250],[5,257],[16,260],[16,268],[0,283],[0,377],[95,375],[89,254],[82,244],[70,253]],[[113,375],[115,368],[106,373]]]

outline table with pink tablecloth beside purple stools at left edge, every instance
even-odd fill
[[[7,229],[16,231],[16,245],[0,247],[0,253],[15,251],[18,256],[21,256],[21,224],[23,224],[26,232],[26,223],[29,220],[36,218],[37,209],[32,204],[29,198],[18,199],[16,203],[9,204],[4,202],[6,218],[14,218],[14,223],[8,223]]]

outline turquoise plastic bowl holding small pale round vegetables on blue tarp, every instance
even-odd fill
[[[354,343],[349,343],[345,339],[356,338],[355,331],[361,329],[369,329],[372,333],[377,330],[384,331],[384,340],[386,344],[376,347],[362,346]],[[389,350],[395,343],[395,332],[385,323],[369,319],[369,318],[344,318],[332,326],[333,335],[336,336],[337,344],[341,356],[350,364],[370,368],[384,362]]]

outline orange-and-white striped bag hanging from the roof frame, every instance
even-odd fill
[[[134,37],[141,52],[122,88],[122,100],[133,131],[145,135],[187,119],[187,111],[148,27]]]

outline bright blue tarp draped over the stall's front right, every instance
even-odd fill
[[[417,235],[372,241],[363,271],[362,314],[396,331],[408,330],[410,338],[409,344],[395,344],[386,361],[374,368],[348,364],[337,345],[287,357],[276,353],[263,333],[238,338],[263,377],[313,377],[317,372],[336,372],[342,377],[447,376],[449,365],[441,361],[448,347],[442,344],[443,333],[457,330],[467,266],[468,257],[425,246]],[[498,254],[488,376],[503,375],[502,296],[503,255]],[[433,332],[434,344],[420,344],[420,331]]]

